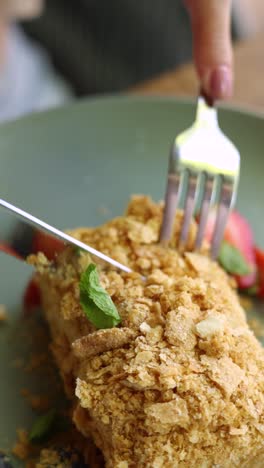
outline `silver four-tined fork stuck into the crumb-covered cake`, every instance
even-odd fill
[[[172,235],[175,211],[180,202],[184,216],[179,245],[184,246],[195,209],[201,203],[195,248],[200,249],[210,207],[217,205],[211,241],[211,256],[216,258],[228,215],[234,206],[239,182],[240,155],[218,126],[217,110],[199,96],[194,124],[174,140],[169,158],[165,208],[160,241]]]

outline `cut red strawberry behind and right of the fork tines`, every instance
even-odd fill
[[[212,210],[209,216],[206,239],[210,242],[214,230],[216,210]],[[252,229],[248,221],[238,211],[232,211],[224,233],[224,239],[236,247],[243,255],[252,272],[245,276],[237,276],[238,286],[242,289],[250,288],[256,283],[256,254]]]

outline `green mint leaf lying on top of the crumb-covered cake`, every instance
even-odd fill
[[[81,275],[80,303],[87,318],[98,329],[116,327],[121,321],[111,297],[100,285],[93,263]]]

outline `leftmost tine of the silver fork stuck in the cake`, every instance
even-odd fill
[[[168,243],[173,229],[175,212],[182,193],[181,173],[168,174],[165,207],[160,231],[160,242]]]

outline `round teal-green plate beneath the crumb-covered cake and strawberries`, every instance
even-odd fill
[[[134,193],[159,200],[170,145],[191,124],[194,112],[192,102],[173,98],[107,97],[3,125],[1,198],[62,229],[103,223],[121,214]],[[241,152],[238,209],[264,247],[264,119],[227,109],[219,118]],[[6,222],[1,212],[0,232]],[[16,429],[29,428],[35,417],[21,388],[45,392],[50,385],[23,369],[37,341],[21,318],[32,270],[4,254],[0,259],[0,303],[8,309],[8,322],[0,325],[0,449],[9,450]],[[261,319],[264,306],[256,304],[251,314]]]

